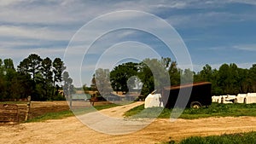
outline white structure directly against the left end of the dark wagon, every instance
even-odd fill
[[[163,102],[161,101],[160,94],[149,94],[145,99],[145,108],[148,107],[164,107]]]

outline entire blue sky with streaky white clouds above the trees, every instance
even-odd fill
[[[148,57],[249,68],[255,32],[254,0],[0,0],[0,58],[60,57],[77,87],[96,68]]]

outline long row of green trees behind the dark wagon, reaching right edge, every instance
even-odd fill
[[[92,78],[91,88],[99,89],[101,95],[111,91],[125,93],[136,91],[141,85],[142,95],[164,86],[207,81],[212,83],[212,95],[237,95],[256,92],[256,64],[240,68],[235,63],[223,64],[218,69],[203,66],[200,72],[181,69],[171,58],[145,59],[140,63],[127,62],[115,66],[110,72],[99,68]],[[103,93],[103,94],[102,94]]]

